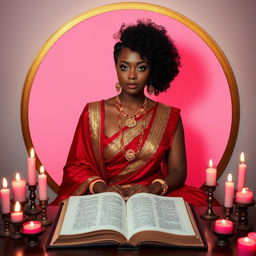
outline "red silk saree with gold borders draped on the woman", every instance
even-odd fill
[[[85,106],[53,204],[73,194],[87,194],[88,184],[96,177],[107,184],[126,187],[136,183],[149,185],[154,179],[166,176],[163,159],[172,144],[180,110],[157,103],[147,111],[142,148],[133,162],[127,161],[120,150],[120,132],[110,138],[104,135],[104,113],[104,100]],[[125,147],[136,150],[142,121],[138,118],[138,125],[132,129],[124,127]],[[207,205],[205,193],[191,186],[184,185],[167,196],[181,196],[197,206]]]

